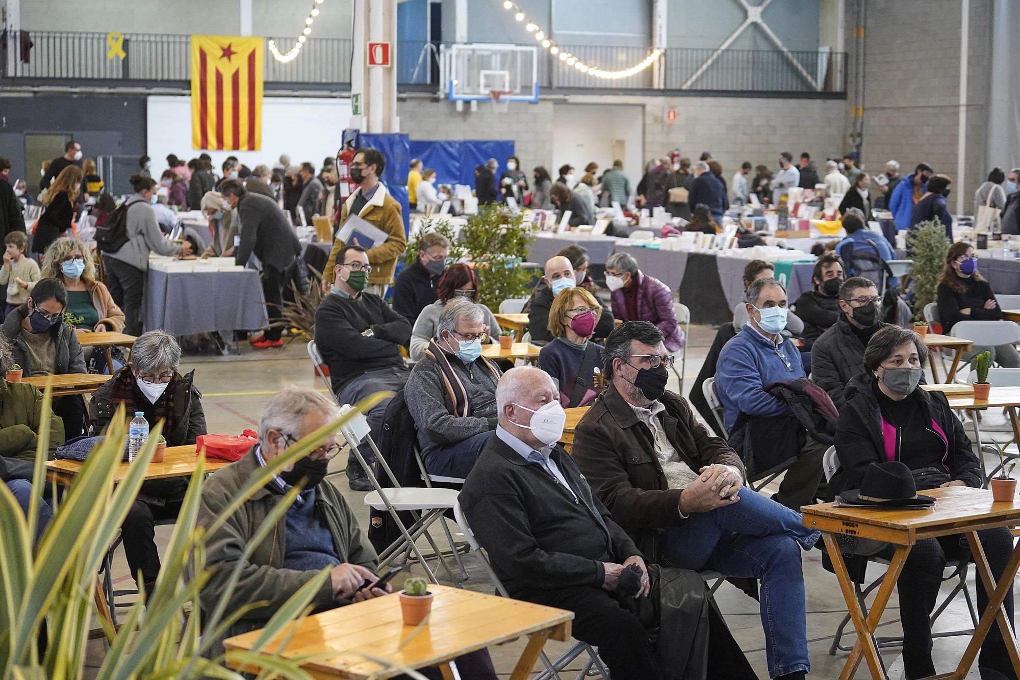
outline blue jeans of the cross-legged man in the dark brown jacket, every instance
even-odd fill
[[[759,579],[769,676],[810,672],[800,547],[810,550],[821,534],[805,527],[800,513],[750,488],[742,488],[740,496],[669,529],[663,562]]]

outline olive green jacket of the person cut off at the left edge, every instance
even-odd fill
[[[43,393],[35,385],[0,380],[0,456],[34,459],[42,415]],[[51,413],[47,460],[53,460],[63,439],[63,421]]]

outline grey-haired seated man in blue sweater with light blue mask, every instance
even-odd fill
[[[750,320],[719,354],[715,387],[724,410],[726,431],[732,433],[737,416],[777,417],[792,414],[784,401],[765,391],[773,382],[806,377],[801,353],[782,334],[786,326],[786,291],[774,278],[753,281],[745,292]],[[797,462],[785,472],[774,501],[793,510],[814,501],[822,478],[825,444],[798,432],[803,443]],[[792,455],[795,452],[792,452]]]

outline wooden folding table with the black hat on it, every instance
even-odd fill
[[[997,583],[988,568],[988,561],[977,538],[981,529],[993,527],[1011,527],[1020,522],[1020,503],[994,503],[991,491],[967,486],[949,486],[924,491],[936,499],[935,506],[927,510],[877,510],[871,508],[834,508],[831,503],[817,506],[804,506],[801,512],[804,516],[804,526],[818,529],[822,532],[825,547],[832,560],[839,588],[847,610],[850,612],[854,628],[857,630],[857,643],[847,660],[847,665],[839,675],[839,680],[850,680],[857,672],[862,659],[867,662],[871,677],[874,680],[885,678],[885,670],[875,645],[874,632],[881,620],[882,612],[888,604],[897,579],[903,571],[903,566],[910,555],[911,547],[923,538],[934,538],[952,534],[964,534],[974,557],[977,577],[984,584],[988,593],[988,606],[981,614],[981,620],[974,630],[974,635],[967,644],[956,671],[935,676],[953,680],[963,680],[977,658],[977,652],[984,641],[992,624],[998,623],[1006,642],[1006,650],[1013,663],[1013,669],[1020,675],[1020,655],[1017,652],[1016,639],[1013,637],[1011,622],[1006,616],[1003,601],[1013,587],[1013,579],[1020,566],[1020,543],[1013,550],[1006,565],[1006,571]],[[896,553],[889,562],[888,570],[874,604],[867,615],[861,609],[857,599],[854,582],[847,571],[847,563],[843,559],[835,534],[847,534],[858,538],[874,538],[896,545]]]

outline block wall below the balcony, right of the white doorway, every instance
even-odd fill
[[[666,122],[668,109],[676,109],[675,123]],[[656,99],[645,107],[645,160],[674,148],[692,160],[708,151],[722,165],[727,184],[746,160],[778,169],[783,151],[795,161],[806,151],[824,168],[824,159],[842,155],[847,144],[846,109],[845,100]]]

